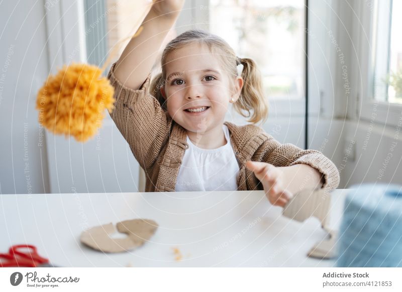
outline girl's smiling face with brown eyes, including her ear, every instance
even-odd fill
[[[240,96],[243,79],[225,72],[221,62],[208,46],[196,42],[167,57],[161,93],[169,115],[187,131],[222,129],[229,102]]]

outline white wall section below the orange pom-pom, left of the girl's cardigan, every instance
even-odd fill
[[[138,192],[139,165],[110,117],[85,143],[47,137],[52,193]]]

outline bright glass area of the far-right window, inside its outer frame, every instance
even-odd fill
[[[375,0],[372,20],[373,96],[402,104],[402,2]]]

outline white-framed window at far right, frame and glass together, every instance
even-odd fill
[[[356,2],[356,5],[359,17],[354,22],[354,33],[356,39],[359,39],[358,53],[361,60],[355,66],[358,71],[357,81],[362,82],[356,88],[357,118],[389,127],[398,126],[402,119],[402,45],[397,35],[401,27],[398,15],[401,2],[367,0]],[[395,78],[398,73],[399,82]]]

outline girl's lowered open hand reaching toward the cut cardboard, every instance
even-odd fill
[[[272,205],[284,207],[293,195],[285,189],[284,173],[279,167],[264,162],[248,161],[246,167],[253,171],[264,187]]]

